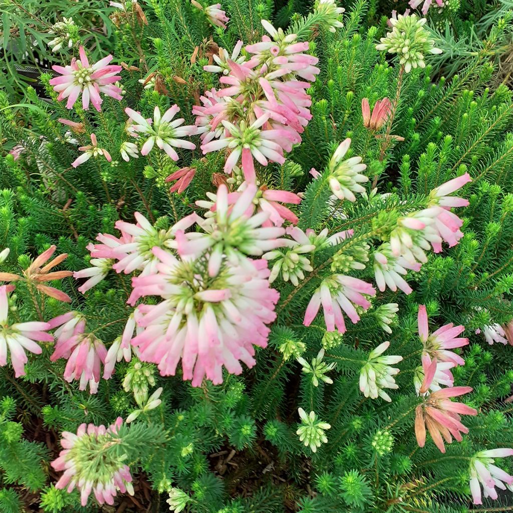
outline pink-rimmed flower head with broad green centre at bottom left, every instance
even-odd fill
[[[99,504],[114,504],[117,490],[133,495],[130,468],[124,463],[126,455],[118,455],[116,446],[122,442],[120,428],[123,419],[118,417],[109,427],[81,424],[76,435],[62,433],[63,450],[52,461],[52,467],[64,471],[55,484],[68,493],[76,487],[80,491],[82,506],[87,505],[91,491]]]

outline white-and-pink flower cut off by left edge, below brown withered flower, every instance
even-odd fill
[[[8,322],[9,301],[7,291],[9,285],[0,286],[0,367],[7,364],[7,350],[11,354],[14,376],[25,376],[25,364],[28,362],[25,351],[41,354],[41,347],[35,342],[53,342],[53,337],[46,333],[50,325],[46,322],[24,322],[10,324]]]

